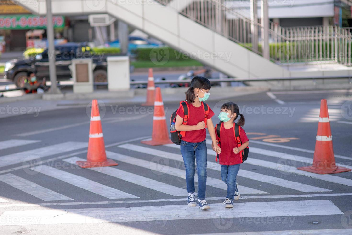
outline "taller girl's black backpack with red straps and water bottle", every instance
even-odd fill
[[[187,125],[187,121],[189,119],[189,107],[188,107],[188,102],[187,101],[181,101],[180,102],[180,106],[182,107],[183,113],[184,113],[184,117],[183,117],[183,125]],[[202,106],[203,106],[203,110],[204,110],[204,114],[205,114],[205,118],[204,118],[204,122],[205,122],[205,127],[207,128],[207,117],[209,114],[209,106],[202,102]],[[175,112],[172,113],[171,118],[170,118],[170,127],[171,127],[171,123],[176,121],[176,112],[177,110],[175,110]],[[171,129],[171,128],[170,128]],[[186,131],[170,131],[171,133],[171,141],[174,142],[177,145],[181,144],[181,137],[182,136],[186,136]]]

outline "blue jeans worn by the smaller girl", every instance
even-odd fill
[[[220,166],[221,166],[221,179],[227,185],[226,197],[233,200],[235,196],[235,192],[238,192],[238,189],[236,187],[236,177],[240,169],[240,164],[236,164],[232,166],[226,166],[226,165],[220,165]]]

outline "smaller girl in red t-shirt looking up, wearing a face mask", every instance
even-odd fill
[[[222,181],[227,184],[226,200],[222,203],[225,204],[226,208],[233,208],[233,199],[238,200],[240,197],[238,184],[236,183],[236,176],[240,169],[240,163],[242,163],[240,152],[249,145],[246,132],[242,127],[240,127],[242,145],[238,147],[238,143],[235,140],[234,122],[239,115],[241,117],[237,124],[244,126],[245,119],[243,115],[239,113],[238,105],[232,102],[223,104],[219,115],[221,123],[218,124],[221,125],[220,136],[216,133],[216,139],[220,141],[221,146],[221,150],[216,151],[220,153],[219,163],[221,165],[221,178]]]

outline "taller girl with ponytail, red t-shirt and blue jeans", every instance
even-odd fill
[[[210,137],[212,137],[213,147],[219,151],[216,142],[214,125],[212,117],[214,112],[208,108],[208,116],[205,123],[205,106],[202,101],[206,101],[209,97],[211,88],[210,81],[204,77],[196,76],[192,79],[190,87],[186,92],[186,101],[188,102],[188,120],[187,125],[183,124],[184,110],[180,105],[176,114],[175,128],[177,131],[183,132],[181,137],[181,154],[186,167],[186,185],[188,192],[189,206],[196,206],[194,175],[195,163],[197,162],[198,173],[198,205],[202,210],[209,209],[205,200],[205,190],[207,185],[207,146],[205,143],[207,126]]]

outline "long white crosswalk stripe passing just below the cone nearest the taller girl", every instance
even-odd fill
[[[178,149],[180,148],[180,146],[175,145],[175,144],[166,144],[165,146],[172,147],[172,148],[178,148]],[[159,156],[163,156],[163,157],[166,157],[166,158],[171,158],[173,160],[182,161],[182,155],[180,155],[180,154],[172,154],[172,153],[168,153],[168,152],[162,151],[162,150],[147,148],[147,147],[143,147],[143,146],[137,146],[137,145],[134,145],[134,144],[122,144],[122,145],[120,145],[118,147],[126,148],[126,149],[133,149],[133,151],[139,151],[141,153],[159,155]],[[212,151],[212,150],[208,150],[208,151]],[[219,163],[208,161],[207,162],[207,166],[208,166],[209,169],[214,169],[216,171],[221,171],[221,167],[220,167]],[[325,189],[325,188],[315,187],[315,186],[311,186],[311,185],[307,185],[307,184],[301,184],[301,183],[298,183],[298,182],[285,180],[285,179],[281,179],[281,178],[277,178],[277,177],[272,177],[272,176],[269,176],[269,175],[259,174],[259,173],[255,173],[255,172],[251,172],[251,171],[245,171],[245,170],[242,170],[242,169],[238,172],[238,175],[241,176],[241,177],[245,177],[247,179],[253,179],[253,180],[257,180],[257,181],[262,181],[262,182],[265,182],[265,183],[268,183],[268,184],[273,184],[273,185],[278,185],[278,186],[281,186],[281,187],[291,188],[291,189],[294,189],[294,190],[297,190],[297,191],[301,191],[301,192],[329,192],[329,191],[332,191],[332,190],[328,190],[328,189]],[[243,188],[243,186],[241,186],[241,188]]]

